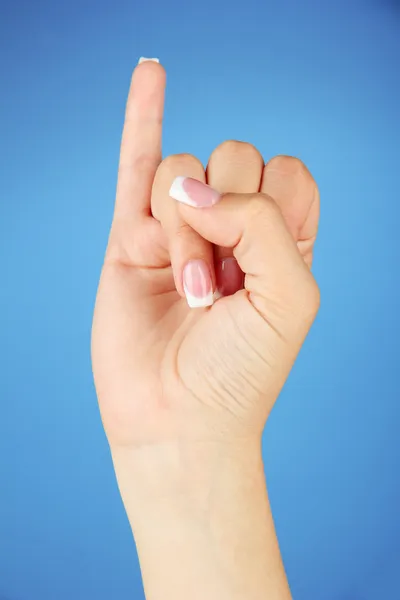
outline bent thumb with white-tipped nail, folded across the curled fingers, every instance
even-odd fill
[[[317,313],[319,290],[274,200],[265,194],[220,195],[188,177],[174,180],[170,196],[205,240],[233,250],[248,299],[264,319],[285,337],[303,338]]]

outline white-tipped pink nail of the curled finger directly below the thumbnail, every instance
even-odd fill
[[[191,260],[183,269],[183,289],[190,308],[213,304],[210,269],[204,260]]]

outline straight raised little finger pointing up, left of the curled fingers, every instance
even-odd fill
[[[166,74],[148,59],[133,72],[126,105],[115,216],[150,214],[153,179],[161,162]]]

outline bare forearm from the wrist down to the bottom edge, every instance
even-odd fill
[[[147,600],[290,599],[259,441],[113,456]]]

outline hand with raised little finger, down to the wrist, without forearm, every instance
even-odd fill
[[[307,169],[287,157],[264,168],[238,142],[213,152],[207,175],[188,155],[160,164],[164,85],[160,65],[135,70],[96,304],[93,367],[112,447],[260,434],[318,308],[308,268],[318,192]],[[169,197],[182,175],[231,193],[211,208],[184,206]],[[215,288],[212,244],[217,264],[236,257],[245,288],[191,309],[183,268],[205,261]]]

